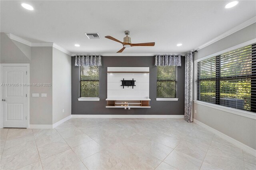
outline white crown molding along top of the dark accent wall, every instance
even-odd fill
[[[102,56],[154,56],[154,55],[186,55],[186,53],[72,53],[74,55],[102,55]]]

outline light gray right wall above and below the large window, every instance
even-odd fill
[[[252,24],[226,38],[198,50],[194,60],[256,38],[256,24]],[[196,77],[194,75],[194,77]],[[195,89],[194,85],[194,89]],[[256,120],[203,105],[193,104],[194,119],[256,149]],[[195,113],[195,110],[197,113]]]

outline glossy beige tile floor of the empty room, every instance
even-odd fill
[[[1,169],[256,169],[256,157],[183,119],[72,118],[0,132]]]

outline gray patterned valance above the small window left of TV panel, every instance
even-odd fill
[[[75,66],[101,66],[101,55],[76,55]]]

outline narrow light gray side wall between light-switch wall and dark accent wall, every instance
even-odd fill
[[[64,113],[62,110],[64,109]],[[71,115],[71,57],[52,49],[52,124]]]

